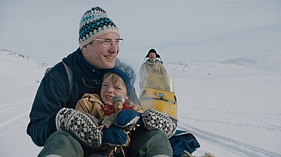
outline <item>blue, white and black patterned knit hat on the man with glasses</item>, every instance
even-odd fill
[[[91,8],[81,18],[79,27],[80,48],[105,33],[119,34],[119,29],[100,7]]]

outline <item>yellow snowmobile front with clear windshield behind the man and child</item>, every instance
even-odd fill
[[[143,111],[155,109],[178,120],[178,104],[174,92],[174,80],[166,75],[149,74],[141,90]]]

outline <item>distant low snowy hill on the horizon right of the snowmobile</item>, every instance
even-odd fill
[[[231,78],[281,71],[281,50],[266,50],[252,55],[220,62],[164,64],[169,75],[176,78]]]

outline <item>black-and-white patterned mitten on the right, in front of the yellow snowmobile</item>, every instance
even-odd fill
[[[147,130],[161,130],[167,137],[171,137],[176,132],[176,124],[171,118],[154,109],[145,111],[143,114],[143,123]]]

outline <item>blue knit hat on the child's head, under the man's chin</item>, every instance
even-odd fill
[[[115,64],[114,68],[105,71],[105,74],[108,72],[115,73],[124,80],[127,91],[129,93],[129,97],[131,97],[133,95],[133,92],[135,91],[133,90],[133,85],[136,81],[135,71],[133,71],[133,69],[129,65],[119,62]]]

